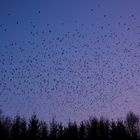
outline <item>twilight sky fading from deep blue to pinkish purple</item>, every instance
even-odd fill
[[[0,0],[4,114],[81,121],[140,114],[139,0]]]

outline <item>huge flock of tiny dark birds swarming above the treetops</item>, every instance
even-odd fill
[[[67,31],[65,22],[56,29],[50,23],[40,29],[30,22],[28,40],[0,44],[0,105],[12,108],[17,102],[13,96],[21,99],[22,107],[44,110],[46,106],[48,112],[78,114],[79,110],[120,108],[122,103],[115,105],[115,100],[123,98],[127,108],[127,97],[140,89],[140,26],[134,24],[133,14],[127,17],[129,23],[120,16],[115,25],[107,23],[109,15],[102,18],[103,25],[75,21]],[[57,27],[62,30],[56,31]],[[8,32],[5,25],[0,24],[0,32]]]

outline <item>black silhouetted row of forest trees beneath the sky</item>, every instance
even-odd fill
[[[56,121],[39,120],[34,113],[29,120],[0,113],[0,140],[139,140],[140,118],[132,111],[125,119],[109,120],[89,117],[81,123],[69,121],[67,125]]]

